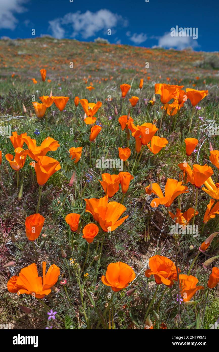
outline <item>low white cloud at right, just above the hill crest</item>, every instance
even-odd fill
[[[197,40],[194,40],[192,37],[171,37],[170,33],[171,32],[165,33],[159,38],[159,47],[183,50],[189,46],[192,48],[199,46]]]

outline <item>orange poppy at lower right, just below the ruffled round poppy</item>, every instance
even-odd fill
[[[196,286],[198,279],[192,275],[179,275],[180,294],[184,302],[188,302],[195,292],[204,289],[204,286]]]

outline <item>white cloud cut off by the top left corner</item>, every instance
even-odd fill
[[[27,11],[24,5],[28,0],[0,0],[0,29],[14,30],[18,20],[14,13]]]

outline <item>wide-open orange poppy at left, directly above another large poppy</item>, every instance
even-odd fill
[[[40,146],[36,146],[36,140],[29,136],[23,137],[28,149],[21,152],[22,155],[29,155],[35,161],[38,161],[39,156],[45,156],[48,151],[55,151],[60,146],[58,140],[51,137],[46,137]]]

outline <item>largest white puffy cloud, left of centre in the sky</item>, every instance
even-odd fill
[[[49,29],[52,31],[53,36],[58,39],[64,37],[66,30],[69,32],[69,25],[73,30],[71,37],[76,37],[80,34],[87,39],[93,37],[99,31],[105,31],[107,34],[107,29],[112,30],[113,27],[118,25],[127,26],[127,20],[124,20],[117,13],[102,9],[97,12],[87,10],[85,13],[80,11],[67,13],[62,18],[49,21]]]

